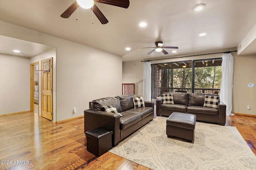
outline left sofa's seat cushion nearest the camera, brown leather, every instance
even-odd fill
[[[142,119],[141,115],[138,113],[128,113],[126,111],[123,111],[121,112],[121,114],[123,116],[120,117],[120,130],[124,130],[127,127],[130,127],[131,125],[137,123]]]

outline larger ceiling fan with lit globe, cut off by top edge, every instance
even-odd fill
[[[60,16],[62,18],[69,18],[75,10],[81,6],[82,8],[89,9],[93,11],[93,13],[96,15],[96,17],[100,20],[102,24],[108,23],[108,20],[106,17],[102,14],[102,12],[99,10],[99,8],[94,4],[94,2],[102,3],[102,4],[108,4],[113,6],[118,6],[121,8],[128,8],[130,5],[129,0],[76,0],[68,9],[66,9],[63,14]]]

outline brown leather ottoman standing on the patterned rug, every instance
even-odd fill
[[[166,120],[166,135],[194,141],[196,115],[173,112]]]

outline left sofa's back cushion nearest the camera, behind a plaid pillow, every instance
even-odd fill
[[[118,112],[121,112],[121,105],[120,105],[120,100],[118,98],[114,97],[108,97],[108,98],[101,98],[101,99],[96,99],[92,100],[91,102],[91,108],[92,110],[103,110],[103,106],[115,106],[116,110]]]

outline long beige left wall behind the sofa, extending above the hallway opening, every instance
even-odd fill
[[[91,100],[122,94],[122,57],[4,21],[0,27],[0,35],[56,47],[54,121],[84,115]]]

